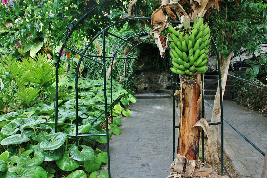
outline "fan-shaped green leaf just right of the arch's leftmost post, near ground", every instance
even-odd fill
[[[62,157],[56,161],[56,164],[63,171],[72,171],[80,166],[78,161],[70,157],[70,151],[64,151]]]

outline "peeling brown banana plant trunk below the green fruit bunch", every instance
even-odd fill
[[[192,128],[195,123],[201,118],[201,77],[200,74],[195,76],[194,83],[187,84],[189,76],[182,76],[181,82],[181,109],[180,109],[180,122],[179,122],[179,135],[177,153],[185,156],[189,160],[198,160],[198,147],[199,147],[199,127]],[[191,130],[191,128],[193,130]],[[193,139],[189,139],[193,131]]]

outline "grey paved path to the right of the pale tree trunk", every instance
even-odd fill
[[[207,102],[213,106],[214,101],[209,100]],[[209,120],[212,110],[207,104],[205,104],[205,109],[206,117]],[[223,117],[263,152],[266,151],[266,117],[227,100],[223,101]],[[237,166],[236,170],[239,176],[261,178],[264,156],[226,122],[224,122],[224,147],[226,154],[227,151],[229,152],[227,155],[232,164]],[[240,162],[242,163],[241,165]]]

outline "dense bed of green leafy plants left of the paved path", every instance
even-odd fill
[[[22,61],[5,56],[0,69],[0,177],[52,178],[56,170],[67,178],[85,178],[88,173],[90,178],[108,177],[103,171],[96,172],[108,161],[107,152],[97,148],[107,142],[107,137],[78,137],[76,143],[70,135],[76,134],[76,120],[79,134],[106,133],[105,114],[113,118],[108,126],[109,138],[111,133],[119,135],[121,120],[116,116],[129,116],[130,110],[124,106],[136,102],[136,98],[121,84],[112,86],[111,97],[108,82],[107,104],[115,103],[105,113],[103,79],[80,77],[76,118],[74,75],[61,67],[56,130],[53,61],[44,56]]]

